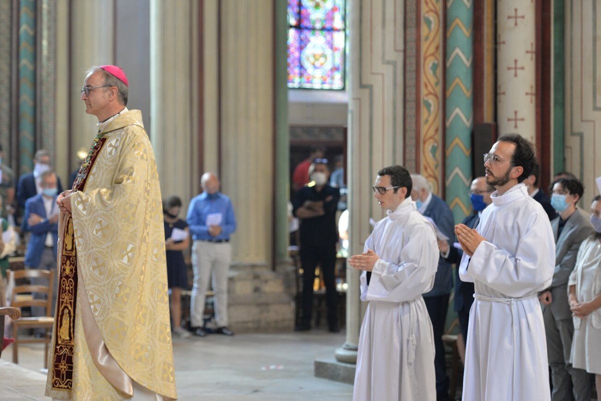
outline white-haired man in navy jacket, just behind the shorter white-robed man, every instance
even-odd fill
[[[413,181],[411,198],[415,201],[418,212],[436,223],[439,230],[448,237],[446,241],[451,246],[454,242],[454,221],[451,209],[444,200],[432,193],[432,187],[424,176],[411,174],[411,179]],[[453,272],[451,271],[451,263],[441,258],[438,260],[434,287],[430,292],[423,295],[434,332],[437,400],[448,400],[447,365],[445,363],[442,335],[445,330],[447,308],[452,289]]]

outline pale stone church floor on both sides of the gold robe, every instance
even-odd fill
[[[180,400],[350,400],[348,384],[313,376],[316,358],[334,358],[344,334],[311,331],[286,334],[237,334],[233,337],[174,339],[175,381]],[[2,354],[12,361],[11,347]],[[15,387],[0,363],[0,399],[49,400],[40,372],[43,345],[23,344],[19,362],[31,372],[32,385]],[[8,396],[8,394],[11,394]],[[26,395],[25,395],[26,394]]]

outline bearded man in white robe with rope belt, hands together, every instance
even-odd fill
[[[478,227],[455,227],[463,249],[460,278],[472,281],[463,400],[550,399],[543,314],[538,292],[551,284],[555,240],[543,207],[523,180],[536,164],[532,145],[502,135],[484,155],[496,188]]]

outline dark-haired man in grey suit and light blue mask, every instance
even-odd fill
[[[562,178],[553,184],[551,205],[559,216],[551,221],[555,236],[555,272],[551,286],[539,296],[547,338],[553,390],[552,400],[590,400],[589,375],[570,364],[574,325],[568,302],[567,286],[581,243],[593,233],[589,220],[576,209],[584,188],[576,179]]]

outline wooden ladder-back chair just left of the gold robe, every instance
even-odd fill
[[[54,318],[52,317],[52,289],[54,286],[54,271],[27,269],[19,271],[7,271],[8,281],[23,278],[41,278],[47,280],[47,286],[41,284],[22,284],[16,285],[11,295],[11,306],[16,308],[22,307],[44,307],[46,308],[46,316],[21,317],[20,320],[13,322],[13,363],[19,363],[19,344],[20,343],[44,343],[44,368],[48,367],[48,346],[50,343],[50,335],[48,329],[52,329]],[[34,299],[32,296],[23,296],[29,293],[46,293],[46,299]],[[41,328],[44,329],[44,337],[42,338],[19,338],[20,328]]]

